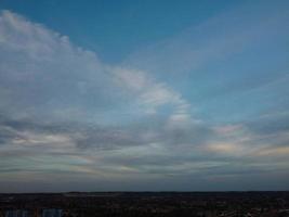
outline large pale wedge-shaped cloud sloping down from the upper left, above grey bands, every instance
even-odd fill
[[[57,120],[91,120],[107,115],[103,111],[118,111],[123,101],[137,115],[157,113],[163,105],[188,112],[180,93],[145,72],[106,65],[67,36],[10,11],[1,13],[0,33],[2,110]]]

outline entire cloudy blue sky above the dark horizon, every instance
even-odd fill
[[[289,190],[289,1],[0,1],[0,192]]]

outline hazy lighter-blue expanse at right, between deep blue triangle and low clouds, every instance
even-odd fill
[[[289,16],[284,4],[233,7],[132,52],[123,65],[173,86],[208,122],[288,108]]]

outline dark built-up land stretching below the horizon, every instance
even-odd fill
[[[289,217],[289,192],[0,194],[0,217]]]

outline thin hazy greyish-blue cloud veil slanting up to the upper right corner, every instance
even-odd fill
[[[205,68],[218,66],[219,62],[232,60],[246,50],[252,51],[263,41],[268,42],[276,33],[284,40],[288,28],[280,24],[288,22],[288,7],[281,4],[242,3],[131,53],[124,64],[154,74],[166,72],[173,79],[187,78],[192,72],[200,75]]]

